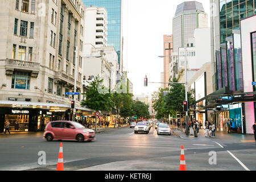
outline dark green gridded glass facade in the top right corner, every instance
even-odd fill
[[[220,0],[221,43],[240,27],[240,20],[256,14],[256,0]]]

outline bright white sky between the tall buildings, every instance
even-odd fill
[[[123,66],[133,82],[135,94],[151,95],[160,84],[144,87],[148,81],[160,82],[163,72],[163,35],[172,34],[172,18],[184,0],[123,0]],[[209,15],[209,0],[199,0]]]

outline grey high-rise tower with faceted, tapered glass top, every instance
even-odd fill
[[[208,15],[202,3],[189,1],[178,5],[172,27],[174,53],[178,52],[179,47],[190,47],[189,39],[194,37],[195,29],[208,27]]]

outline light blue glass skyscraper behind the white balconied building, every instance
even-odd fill
[[[82,0],[85,6],[105,7],[108,11],[108,46],[113,46],[121,66],[122,0]],[[85,22],[86,23],[86,22]]]

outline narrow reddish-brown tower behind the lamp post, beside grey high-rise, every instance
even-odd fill
[[[164,35],[164,82],[169,82],[170,79],[170,64],[172,60],[173,42],[172,35]],[[164,84],[164,88],[168,88],[168,84]]]

